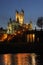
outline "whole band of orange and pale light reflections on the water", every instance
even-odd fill
[[[2,65],[36,65],[36,54],[18,53],[2,54]]]

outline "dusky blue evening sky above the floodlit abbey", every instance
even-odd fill
[[[43,16],[43,0],[0,0],[0,27],[7,27],[10,17],[15,19],[16,9],[24,9],[25,22],[32,20],[35,24],[37,18]]]

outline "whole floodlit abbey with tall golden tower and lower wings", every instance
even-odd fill
[[[15,13],[15,20],[9,19],[8,25],[7,25],[7,34],[13,34],[15,30],[21,30],[21,29],[28,29],[32,30],[32,21],[30,23],[25,24],[24,21],[24,10],[21,10],[20,12],[16,10]]]

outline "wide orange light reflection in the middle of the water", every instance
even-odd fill
[[[31,54],[23,53],[23,54],[17,54],[17,65],[29,65],[28,57],[30,57]],[[31,58],[31,57],[30,57]]]

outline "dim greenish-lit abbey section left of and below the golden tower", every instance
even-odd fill
[[[15,30],[19,29],[19,26],[20,26],[19,23],[16,22],[15,20],[10,21],[7,26],[7,33],[13,34],[15,32]]]

